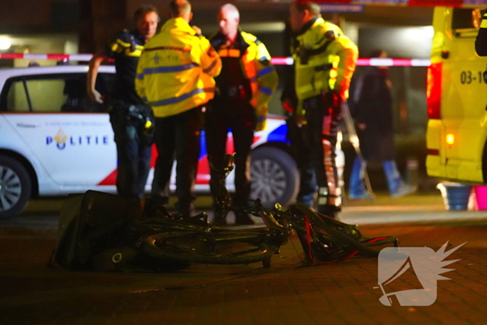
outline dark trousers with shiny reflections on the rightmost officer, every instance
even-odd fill
[[[340,104],[331,107],[321,95],[308,98],[303,102],[308,123],[301,127],[303,142],[308,145],[303,158],[308,159],[301,165],[300,196],[310,198],[317,193],[317,211],[335,217],[340,212],[341,196],[338,184],[335,149],[337,132],[342,121]],[[314,172],[314,173],[313,173]],[[316,180],[314,180],[314,175]]]

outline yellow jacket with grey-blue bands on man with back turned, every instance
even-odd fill
[[[144,47],[139,58],[136,91],[152,106],[154,116],[173,116],[214,97],[221,59],[209,41],[180,17],[169,19]]]

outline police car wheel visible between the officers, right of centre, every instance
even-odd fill
[[[264,207],[278,202],[287,206],[296,199],[299,173],[296,161],[284,150],[261,147],[252,151],[250,198],[260,198]]]

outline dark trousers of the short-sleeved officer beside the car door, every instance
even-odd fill
[[[137,108],[137,113],[134,114],[136,116],[129,116],[129,107]],[[153,120],[152,110],[150,106],[142,104],[118,102],[110,111],[110,122],[117,145],[117,191],[118,195],[127,198],[141,199],[145,193],[152,154],[152,133],[147,134],[145,118]]]

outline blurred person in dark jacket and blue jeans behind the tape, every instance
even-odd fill
[[[373,51],[372,58],[387,58],[385,51]],[[354,118],[360,139],[360,150],[365,161],[382,161],[388,180],[390,195],[394,198],[415,191],[415,187],[404,184],[394,161],[394,127],[392,125],[392,94],[388,79],[388,67],[370,67],[358,79],[352,100],[356,100]],[[349,198],[369,199],[364,183],[363,168],[358,158],[353,162],[350,177]]]

